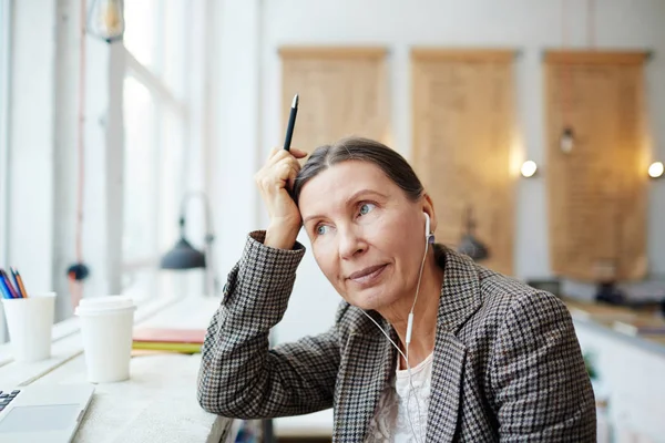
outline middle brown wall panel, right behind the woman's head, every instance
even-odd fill
[[[412,163],[434,200],[437,240],[457,246],[472,208],[484,266],[513,272],[513,51],[413,50]]]

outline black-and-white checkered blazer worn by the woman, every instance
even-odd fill
[[[397,351],[346,302],[327,332],[269,349],[305,248],[269,248],[264,236],[250,234],[208,327],[200,404],[237,419],[334,408],[332,440],[362,442]],[[565,306],[450,249],[436,251],[444,277],[427,441],[595,442],[594,395]]]

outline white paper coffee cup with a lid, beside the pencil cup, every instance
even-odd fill
[[[135,310],[125,296],[81,299],[76,316],[81,318],[88,381],[110,383],[130,378]]]

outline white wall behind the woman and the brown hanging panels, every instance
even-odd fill
[[[586,2],[566,1],[567,44],[587,44]],[[409,49],[412,45],[500,47],[521,50],[515,61],[518,120],[524,156],[544,172],[522,181],[516,189],[515,272],[521,278],[551,276],[548,257],[548,215],[544,164],[543,49],[562,44],[561,2],[552,0],[253,0],[250,7],[224,3],[221,17],[221,82],[218,95],[221,193],[217,217],[247,202],[254,214],[237,213],[217,224],[221,271],[237,259],[244,235],[265,227],[266,216],[256,196],[252,175],[282,134],[280,64],[283,44],[364,44],[390,50],[390,99],[395,148],[411,150]],[[665,2],[643,0],[595,1],[595,43],[598,49],[652,50],[646,93],[653,122],[653,156],[665,157]],[[238,42],[243,44],[238,44]],[[260,56],[257,56],[259,51]],[[260,89],[257,92],[257,79]],[[259,96],[257,97],[257,93]],[[257,134],[260,134],[257,136]],[[254,206],[252,206],[254,205]],[[655,275],[665,275],[665,181],[654,183],[649,195],[648,255]],[[301,235],[301,239],[305,236]],[[283,323],[279,341],[324,330],[338,296],[320,276],[308,254],[299,270],[296,292]]]

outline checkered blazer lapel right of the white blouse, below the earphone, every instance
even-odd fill
[[[459,426],[467,348],[457,337],[481,306],[475,264],[447,248],[437,248],[443,285],[437,316],[437,338],[428,410],[428,442],[452,442]]]

